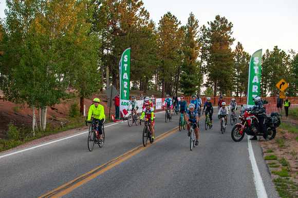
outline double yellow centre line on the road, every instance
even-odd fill
[[[160,136],[154,138],[154,143],[175,133],[177,131],[177,129],[178,129],[178,126],[169,130],[169,131],[166,131],[164,134],[161,134]],[[118,158],[115,158],[114,160],[111,160],[111,161],[103,164],[102,166],[99,166],[99,167],[81,175],[77,179],[74,179],[74,180],[48,192],[47,194],[40,196],[40,197],[62,197],[63,195],[82,186],[83,184],[87,183],[88,181],[98,177],[98,175],[100,175],[101,173],[103,173],[103,172],[109,170],[110,168],[113,168],[113,167],[117,166],[118,164],[124,162],[125,160],[133,157],[138,152],[144,150],[145,148],[147,148],[151,145],[152,144],[148,144],[146,147],[144,147],[143,145],[140,145],[132,150],[129,150],[128,152],[124,153],[122,156],[119,156]]]

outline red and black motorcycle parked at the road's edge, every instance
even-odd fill
[[[242,106],[239,116],[241,122],[237,123],[231,131],[232,139],[235,142],[240,142],[244,138],[245,134],[249,136],[263,136],[266,138],[259,128],[259,121],[257,117],[251,112],[252,109],[247,108],[246,104]],[[281,124],[281,119],[279,116],[280,114],[273,112],[270,114],[270,116],[266,116],[265,118],[265,126],[268,130],[269,140],[272,140],[275,137],[276,127]]]

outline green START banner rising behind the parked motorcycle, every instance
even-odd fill
[[[262,49],[256,51],[249,61],[247,106],[254,106],[253,97],[260,93],[260,76],[262,65]]]

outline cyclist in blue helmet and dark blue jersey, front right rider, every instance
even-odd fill
[[[195,110],[195,104],[194,103],[190,103],[189,104],[189,111],[187,111],[187,119],[186,122],[188,123],[187,128],[188,128],[188,136],[190,136],[190,130],[191,130],[191,126],[189,125],[190,123],[196,123],[194,125],[194,129],[195,129],[195,134],[196,134],[196,144],[199,144],[199,115],[198,115],[198,111]]]

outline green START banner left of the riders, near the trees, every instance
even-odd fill
[[[129,103],[129,74],[131,71],[131,48],[127,48],[121,57],[119,63],[120,74],[120,112],[123,117],[126,116],[126,109]],[[124,111],[123,111],[124,110]]]

